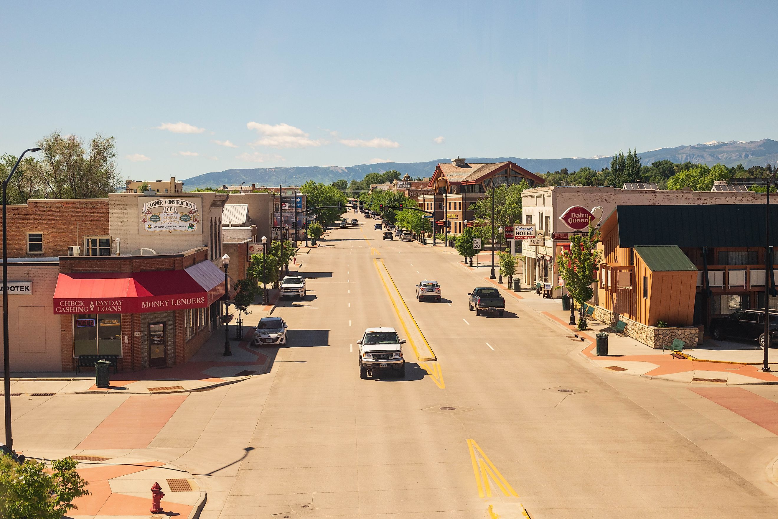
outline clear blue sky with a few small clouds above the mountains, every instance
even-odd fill
[[[2,11],[0,153],[99,132],[137,180],[778,139],[776,2]]]

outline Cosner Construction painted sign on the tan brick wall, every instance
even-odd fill
[[[202,233],[202,197],[138,198],[142,233]]]

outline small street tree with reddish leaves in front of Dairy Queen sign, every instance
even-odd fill
[[[573,235],[570,238],[570,250],[562,252],[559,258],[556,258],[559,275],[565,281],[567,293],[579,306],[579,330],[587,329],[584,303],[594,296],[591,284],[595,279],[594,269],[600,262],[601,252],[597,250],[599,240],[600,232],[595,230],[594,226],[589,226],[589,233],[586,236]]]

